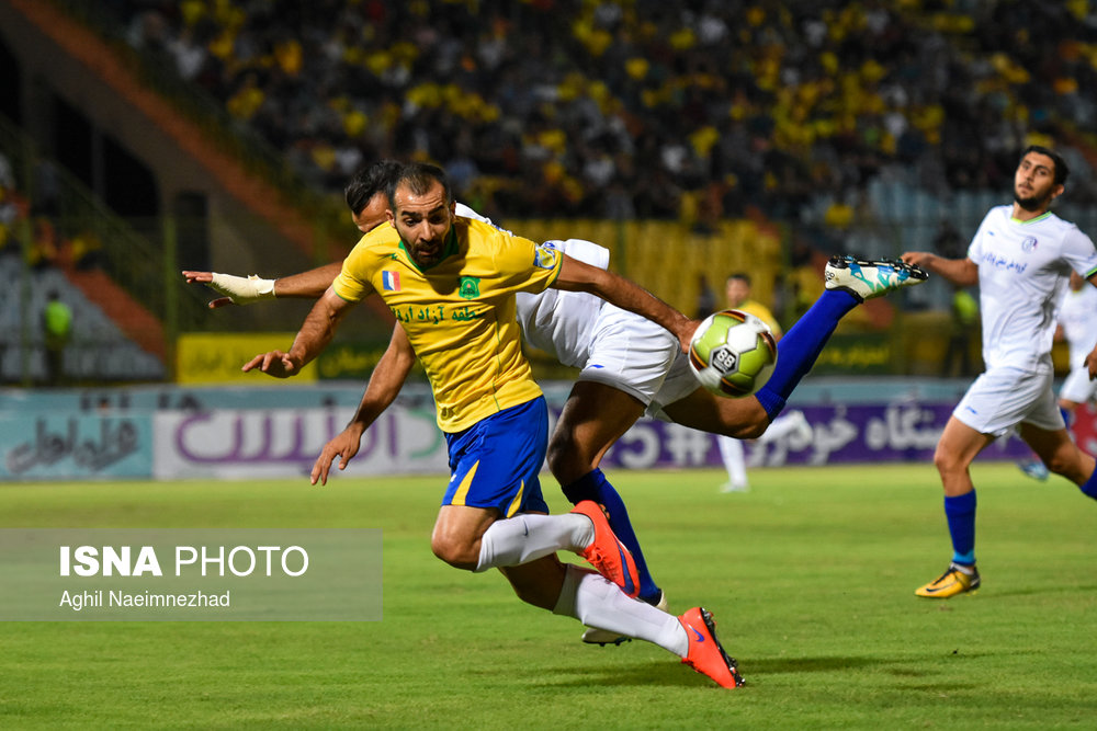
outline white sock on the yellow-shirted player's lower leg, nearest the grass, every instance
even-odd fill
[[[573,563],[567,564],[564,587],[552,612],[575,617],[587,627],[647,640],[679,658],[689,652],[689,638],[678,617],[629,598],[598,572]]]

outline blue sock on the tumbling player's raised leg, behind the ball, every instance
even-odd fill
[[[784,334],[777,347],[773,375],[755,393],[770,421],[777,419],[800,379],[815,365],[838,321],[858,305],[857,298],[848,292],[825,289]]]

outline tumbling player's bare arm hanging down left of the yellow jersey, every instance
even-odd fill
[[[392,404],[414,365],[415,352],[411,350],[411,343],[408,342],[404,328],[397,322],[393,329],[392,340],[388,341],[388,349],[370,376],[370,384],[365,387],[365,393],[358,404],[354,418],[347,424],[347,429],[324,445],[324,450],[316,458],[309,475],[313,484],[317,481],[320,484],[328,483],[328,472],[337,457],[339,469],[347,469],[347,465],[358,454],[365,430]]]

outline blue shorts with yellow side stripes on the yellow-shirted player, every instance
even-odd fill
[[[443,505],[494,507],[502,517],[547,513],[538,475],[548,447],[543,396],[445,435],[450,487]]]

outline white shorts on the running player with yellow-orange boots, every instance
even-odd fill
[[[991,368],[975,379],[952,415],[981,434],[1002,436],[1020,423],[1049,432],[1065,429],[1050,364],[1039,370]]]

